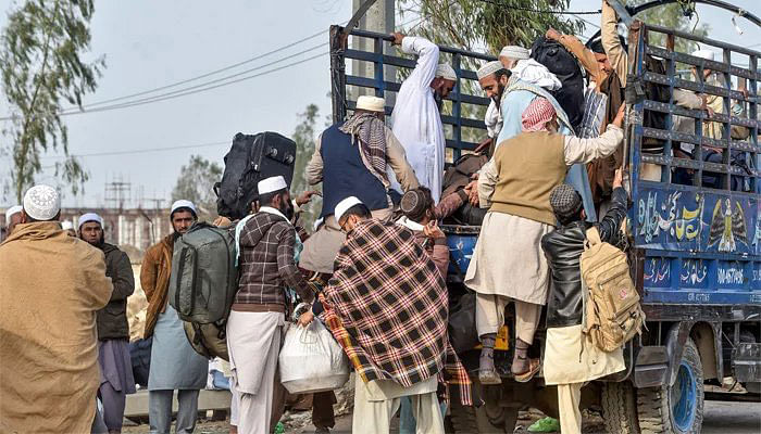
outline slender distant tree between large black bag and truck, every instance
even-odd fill
[[[315,125],[320,118],[320,107],[316,104],[309,104],[303,113],[299,113],[301,119],[296,126],[291,139],[296,142],[296,164],[294,167],[294,180],[290,184],[291,194],[301,194],[307,190],[314,190],[313,186],[307,182],[307,163],[314,153],[316,143]],[[313,196],[312,202],[304,207],[301,218],[304,226],[310,229],[314,220],[320,215],[322,199]]]

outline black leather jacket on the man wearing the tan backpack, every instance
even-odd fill
[[[611,208],[597,225],[600,239],[614,244],[621,222],[626,216],[626,191],[613,190]],[[547,327],[567,327],[582,323],[581,257],[587,229],[585,221],[574,221],[541,238],[541,248],[550,264],[552,286],[547,302]]]

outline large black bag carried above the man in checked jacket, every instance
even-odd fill
[[[290,186],[296,163],[296,143],[277,132],[254,136],[238,132],[225,155],[225,173],[214,184],[216,213],[238,220],[246,217],[259,199],[260,180],[282,175]]]

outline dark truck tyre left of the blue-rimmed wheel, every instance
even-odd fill
[[[602,420],[606,432],[638,434],[637,394],[628,381],[602,385]]]

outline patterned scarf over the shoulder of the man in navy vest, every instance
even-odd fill
[[[388,189],[386,126],[383,120],[371,113],[360,113],[351,116],[339,129],[351,136],[352,141],[357,138],[362,163]]]

